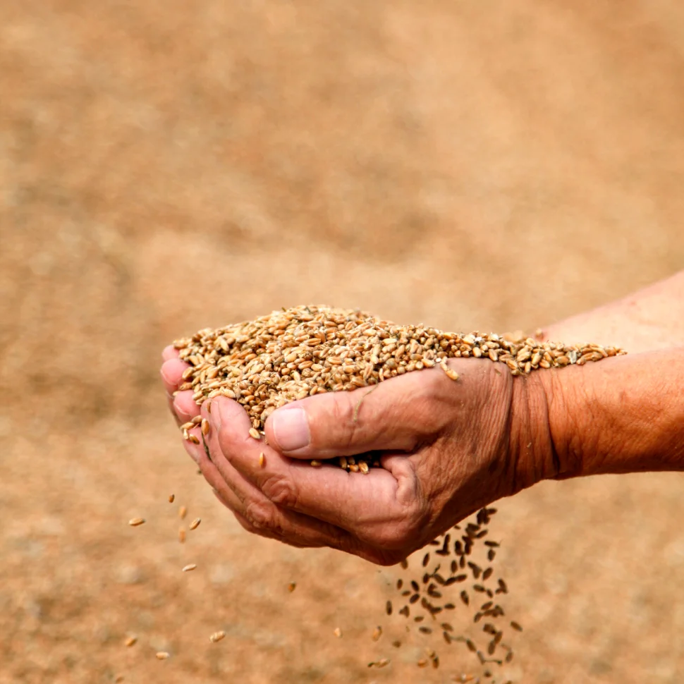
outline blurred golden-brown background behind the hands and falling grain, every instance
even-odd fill
[[[370,641],[393,568],[234,523],[161,348],[298,303],[533,329],[680,269],[683,183],[678,0],[1,2],[0,683],[473,669]],[[501,502],[509,676],[682,681],[682,484]]]

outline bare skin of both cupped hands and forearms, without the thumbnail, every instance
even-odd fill
[[[211,413],[208,402],[201,409],[211,425],[207,448],[182,440],[183,446],[246,530],[381,565],[544,479],[684,469],[684,347],[656,350],[666,339],[684,341],[684,272],[555,324],[546,339],[590,339],[640,353],[518,378],[487,360],[451,359],[458,381],[432,368],[372,391],[283,406],[266,422],[268,444],[249,436],[238,403],[216,398]],[[200,407],[190,391],[173,398],[187,367],[177,356],[173,347],[164,350],[161,374],[181,424]],[[287,453],[273,417],[301,409],[310,445]],[[199,428],[191,432],[201,441]],[[383,468],[368,475],[308,463],[375,450],[384,454]]]

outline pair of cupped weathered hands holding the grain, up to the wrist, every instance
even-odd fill
[[[185,450],[240,525],[287,544],[392,565],[491,501],[558,475],[543,388],[489,360],[449,360],[456,381],[434,367],[294,401],[268,417],[264,441],[236,401],[200,408],[192,391],[177,392],[188,365],[172,346],[163,358],[178,424],[209,421]],[[382,468],[367,475],[310,465],[369,451]]]

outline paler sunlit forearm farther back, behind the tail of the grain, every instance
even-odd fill
[[[544,339],[595,342],[629,353],[684,344],[684,271],[544,329]]]

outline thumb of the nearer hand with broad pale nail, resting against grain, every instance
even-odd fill
[[[429,414],[437,373],[441,370],[407,373],[370,389],[329,392],[287,404],[266,421],[269,443],[294,458],[413,451],[438,423]]]

